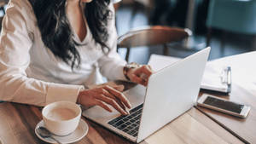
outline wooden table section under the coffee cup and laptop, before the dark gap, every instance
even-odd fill
[[[3,144],[45,143],[39,140],[34,133],[36,125],[42,119],[41,109],[10,102],[0,103],[0,139]],[[76,142],[78,144],[132,143],[98,124],[83,119],[89,124],[89,132],[81,141]],[[142,143],[242,142],[193,107]]]

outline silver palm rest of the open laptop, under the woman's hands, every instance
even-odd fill
[[[124,92],[127,99],[131,102],[131,108],[137,107],[144,101],[144,96],[146,94],[146,87],[142,85],[137,85],[132,89],[126,90]],[[83,116],[95,120],[96,122],[106,122],[109,119],[119,117],[119,112],[117,112],[113,107],[111,107],[113,112],[108,112],[102,107],[95,106],[91,107],[83,112]]]

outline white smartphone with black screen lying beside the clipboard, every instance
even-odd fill
[[[197,101],[197,105],[201,107],[207,107],[219,112],[224,112],[236,117],[246,118],[247,113],[250,111],[251,107],[239,104],[234,101],[228,101],[220,99],[213,95],[201,95]]]

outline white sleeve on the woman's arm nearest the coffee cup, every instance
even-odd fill
[[[44,106],[77,100],[81,85],[54,84],[28,78],[32,48],[32,7],[27,1],[9,2],[0,37],[0,100]],[[29,14],[31,13],[31,14]]]

